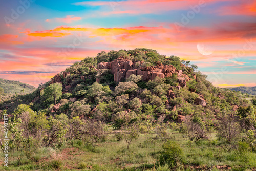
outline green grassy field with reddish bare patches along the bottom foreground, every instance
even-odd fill
[[[155,135],[152,134],[151,137]],[[214,137],[214,134],[212,135]],[[249,151],[224,151],[217,140],[190,141],[181,133],[170,131],[170,140],[183,151],[182,161],[173,170],[255,170],[256,153]],[[147,136],[140,135],[127,150],[125,141],[108,135],[105,142],[95,147],[80,140],[69,141],[60,149],[41,148],[30,152],[10,152],[9,167],[1,163],[0,170],[170,170],[158,166],[162,149],[160,140],[146,143]],[[1,152],[1,156],[4,154]]]

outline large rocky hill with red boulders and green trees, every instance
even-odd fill
[[[18,97],[18,101],[48,115],[64,113],[115,124],[117,118],[144,115],[161,116],[166,121],[197,116],[207,122],[247,106],[241,94],[216,88],[206,78],[189,61],[166,57],[155,50],[101,52],[75,62],[33,94]],[[56,105],[53,98],[44,95],[52,84],[60,84],[62,89]],[[15,105],[7,102],[4,108],[12,111]]]

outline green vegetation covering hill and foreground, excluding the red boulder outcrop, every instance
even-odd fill
[[[183,75],[143,81],[132,74],[115,82],[97,65],[117,58],[141,68],[172,65]],[[206,78],[189,61],[150,49],[75,62],[58,82],[0,102],[1,117],[10,117],[9,169],[255,169],[256,98]]]

